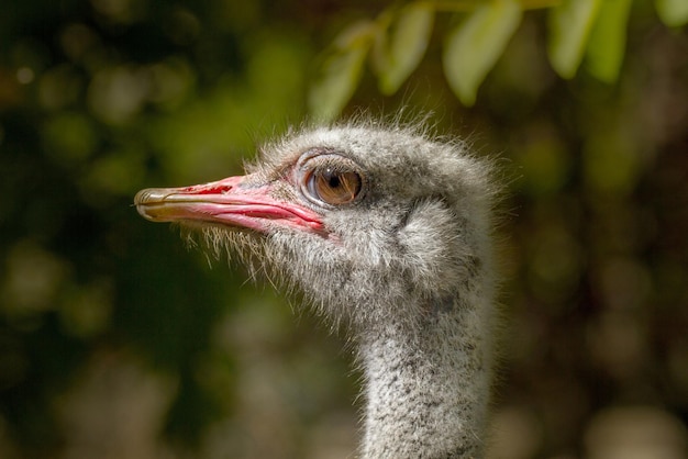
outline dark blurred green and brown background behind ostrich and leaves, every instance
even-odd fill
[[[307,117],[363,0],[7,0],[0,13],[0,457],[344,458],[359,374],[240,266],[137,216]],[[524,16],[475,107],[428,55],[393,97],[498,157],[490,457],[688,457],[688,31],[633,2],[619,81],[562,80]]]

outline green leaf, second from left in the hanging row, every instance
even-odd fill
[[[397,92],[421,63],[433,22],[430,4],[412,3],[399,12],[391,26],[380,31],[373,49],[373,68],[382,93]]]

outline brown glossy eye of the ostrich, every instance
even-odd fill
[[[306,176],[306,191],[330,205],[348,204],[360,192],[360,176],[332,168],[312,170]]]

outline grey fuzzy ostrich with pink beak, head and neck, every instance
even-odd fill
[[[364,374],[363,458],[479,458],[490,390],[489,167],[465,144],[374,122],[304,127],[247,175],[146,189],[342,326]]]

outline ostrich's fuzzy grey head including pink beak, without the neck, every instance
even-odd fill
[[[487,170],[460,143],[401,127],[317,128],[264,147],[247,169],[143,190],[137,210],[200,227],[214,247],[238,246],[357,332],[392,317],[412,325],[488,261]]]

